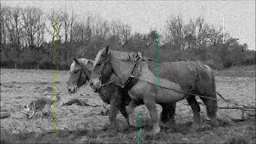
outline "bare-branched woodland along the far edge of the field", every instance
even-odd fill
[[[100,15],[81,18],[64,10],[43,13],[36,7],[1,6],[1,67],[53,70],[54,20],[58,70],[69,70],[73,58],[94,59],[107,45],[111,50],[140,51],[155,59],[158,37],[159,61],[194,59],[215,70],[255,64],[254,50],[202,17],[185,23],[182,15],[173,15],[166,19],[164,32],[151,29],[141,34],[132,33],[126,23],[108,21]]]

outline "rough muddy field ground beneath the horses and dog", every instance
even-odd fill
[[[68,94],[66,80],[68,71],[57,72],[57,95],[61,101],[57,105],[57,132],[54,134],[54,121],[51,117],[40,118],[36,114],[28,119],[23,105],[38,97],[54,97],[54,70],[14,70],[1,69],[1,143],[14,142],[86,142],[86,143],[137,143],[138,111],[142,113],[142,143],[223,143],[231,138],[243,138],[255,143],[255,114],[246,111],[246,121],[239,122],[241,110],[218,110],[220,126],[213,129],[209,125],[206,109],[201,105],[202,126],[196,132],[189,132],[193,122],[193,113],[186,101],[178,102],[175,115],[176,126],[162,127],[161,134],[149,134],[149,114],[145,106],[138,106],[131,115],[132,127],[128,127],[125,118],[118,113],[117,132],[106,130],[109,124],[109,108],[94,94],[89,86],[83,86],[76,94]],[[255,106],[255,78],[216,77],[217,90],[224,98]],[[85,106],[73,104],[61,106],[72,98],[79,98]],[[220,99],[220,98],[218,98]],[[198,98],[199,102],[202,102]],[[218,106],[234,106],[218,102]],[[158,106],[158,111],[162,108]],[[55,137],[57,141],[55,141]]]

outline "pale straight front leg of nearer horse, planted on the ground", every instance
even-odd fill
[[[158,122],[158,112],[157,112],[157,107],[156,102],[154,100],[154,96],[150,96],[150,97],[144,97],[143,99],[147,110],[149,110],[150,112],[150,118],[151,121],[153,122],[153,130],[152,130],[152,134],[158,134],[160,132],[160,126],[159,126],[159,122]]]

